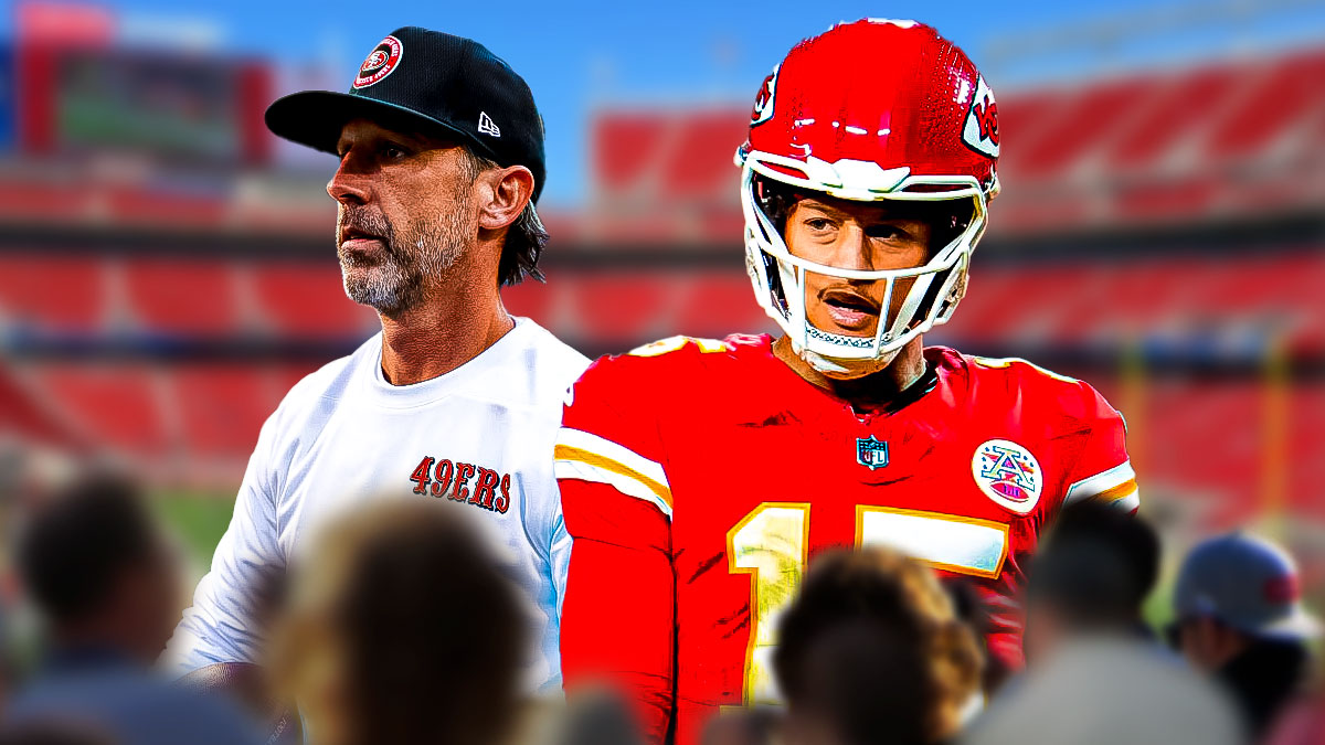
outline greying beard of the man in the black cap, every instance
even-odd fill
[[[342,251],[341,225],[346,221],[382,236],[386,257],[364,260]],[[419,223],[412,228],[409,233],[413,240],[401,240],[395,225],[383,215],[355,208],[341,209],[337,220],[337,256],[341,260],[344,294],[350,300],[388,318],[399,318],[419,308],[428,289],[440,284],[443,274],[464,256],[476,232],[465,224],[461,209],[449,211],[437,220]]]

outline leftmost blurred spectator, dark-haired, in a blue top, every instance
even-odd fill
[[[236,704],[151,672],[179,594],[174,557],[131,484],[106,476],[74,483],[36,508],[16,553],[49,648],[9,708],[8,736],[60,732],[135,745],[261,740]]]

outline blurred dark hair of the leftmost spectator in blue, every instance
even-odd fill
[[[159,555],[155,524],[131,481],[85,476],[36,508],[20,533],[20,579],[44,616],[83,620],[122,574]]]

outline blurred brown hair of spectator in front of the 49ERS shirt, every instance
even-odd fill
[[[514,718],[529,620],[478,528],[436,502],[387,502],[323,536],[311,571],[334,578],[351,742],[486,745]]]

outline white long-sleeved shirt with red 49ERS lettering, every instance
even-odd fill
[[[587,366],[538,323],[517,318],[497,343],[431,380],[388,383],[379,333],[297,383],[262,426],[235,516],[175,630],[167,664],[183,673],[260,661],[258,589],[294,561],[318,522],[366,500],[395,497],[449,501],[439,506],[472,510],[493,528],[509,549],[504,561],[537,607],[530,685],[559,687],[558,622],[571,540],[553,444],[566,390]],[[411,476],[425,459],[432,459],[429,480],[419,494]],[[457,488],[469,498],[457,501]]]

